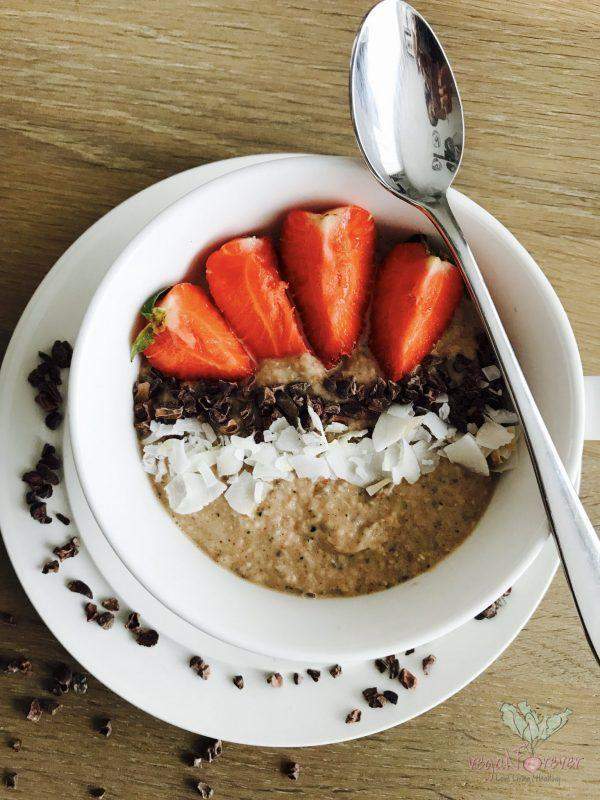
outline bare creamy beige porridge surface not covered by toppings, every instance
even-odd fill
[[[480,328],[463,300],[434,355],[474,358]],[[368,349],[335,370],[360,384],[380,377]],[[306,381],[327,397],[328,373],[311,355],[260,365],[259,385]],[[352,427],[364,424],[359,419]],[[294,477],[273,484],[254,513],[240,514],[221,495],[197,513],[168,513],[216,563],[263,586],[315,596],[351,596],[394,586],[433,567],[471,533],[493,494],[495,476],[441,459],[414,484],[389,484],[374,496],[343,480]]]

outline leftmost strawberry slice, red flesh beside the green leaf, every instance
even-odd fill
[[[156,307],[165,312],[164,321],[144,355],[165,375],[234,380],[254,372],[252,359],[199,286],[178,283]]]

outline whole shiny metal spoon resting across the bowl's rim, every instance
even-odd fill
[[[520,417],[579,616],[600,663],[600,542],[448,205],[446,192],[462,157],[463,110],[440,43],[408,3],[382,0],[365,17],[352,52],[350,102],[369,168],[386,189],[431,220],[479,309]]]

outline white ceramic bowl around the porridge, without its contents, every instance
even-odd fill
[[[583,376],[566,315],[540,269],[499,222],[458,192],[451,202],[574,477],[583,439]],[[269,229],[294,206],[339,203],[368,208],[398,237],[429,231],[418,212],[354,160],[290,158],[218,178],[159,214],[119,256],[84,318],[69,385],[79,477],[94,516],[130,571],[201,630],[248,650],[307,663],[377,657],[448,633],[511,586],[548,535],[523,455],[502,476],[473,534],[434,569],[372,595],[306,599],[256,586],[217,566],[156,499],[132,421],[138,364],[130,363],[129,346],[138,309],[223,240]]]

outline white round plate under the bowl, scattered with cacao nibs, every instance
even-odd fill
[[[269,156],[277,157],[277,156]],[[229,741],[264,746],[327,744],[369,735],[398,725],[443,702],[473,680],[510,644],[541,600],[556,570],[557,557],[548,540],[540,555],[515,585],[507,605],[492,621],[470,621],[460,629],[401,659],[420,673],[419,660],[429,651],[438,661],[416,691],[398,689],[400,702],[381,710],[367,708],[360,696],[366,686],[394,688],[373,665],[355,663],[337,680],[324,674],[318,684],[305,679],[296,687],[288,679],[282,689],[264,683],[264,670],[273,662],[198,632],[160,605],[131,576],[99,529],[89,524],[90,512],[81,507],[75,482],[70,486],[73,510],[86,545],[76,559],[64,562],[58,575],[42,575],[40,567],[53,546],[76,533],[54,522],[40,526],[30,519],[18,476],[31,467],[43,441],[60,442],[60,431],[48,432],[33,403],[27,373],[35,366],[38,349],[54,339],[68,338],[77,329],[89,298],[116,254],[160,209],[191,188],[260,161],[251,156],[197,167],[158,183],[132,197],[93,225],[57,262],[28,304],[7,350],[0,373],[0,523],[15,571],[38,613],[83,667],[117,694],[186,730]],[[65,453],[69,480],[68,452]],[[51,510],[66,511],[64,487],[58,487]],[[93,555],[92,560],[90,553]],[[71,578],[85,580],[102,598],[117,594],[139,610],[144,622],[161,633],[152,650],[138,647],[121,626],[103,631],[87,625],[83,600],[65,589]],[[214,667],[208,682],[187,667],[199,653]],[[308,665],[306,665],[308,666]],[[243,672],[247,688],[238,691],[231,676]],[[346,725],[353,707],[363,709],[359,725]]]

